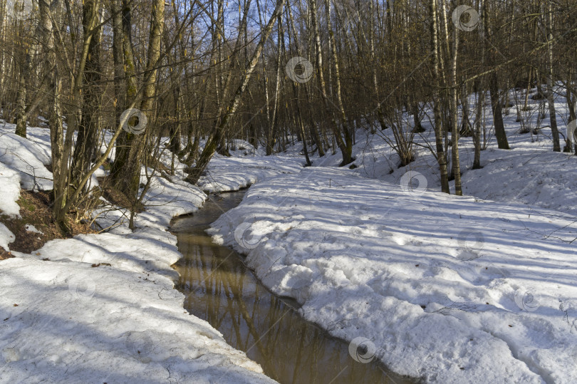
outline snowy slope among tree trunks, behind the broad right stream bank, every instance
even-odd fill
[[[523,91],[524,92],[524,91]],[[561,133],[561,149],[563,137],[566,135],[568,110],[564,90],[557,88],[556,116],[558,129]],[[536,89],[531,90],[531,94]],[[521,108],[524,93],[517,95]],[[513,92],[510,100],[514,101]],[[459,157],[461,160],[463,193],[479,199],[489,199],[501,202],[522,203],[534,207],[549,208],[568,212],[577,216],[577,156],[571,153],[552,152],[551,129],[549,114],[538,124],[537,111],[539,100],[529,98],[528,112],[521,112],[526,119],[526,126],[541,128],[539,134],[519,133],[520,123],[517,122],[516,108],[504,109],[504,125],[511,150],[499,150],[492,129],[493,119],[489,100],[483,120],[487,125],[487,150],[481,152],[481,170],[472,170],[474,146],[471,137],[459,138]],[[474,95],[469,97],[469,120],[475,118]],[[547,110],[548,111],[548,110]],[[419,145],[435,142],[432,130],[433,120],[430,108],[425,108],[422,125],[425,133],[415,135]],[[412,115],[403,114],[402,120],[412,126]],[[440,191],[440,175],[437,160],[426,147],[415,145],[415,161],[405,167],[398,167],[399,157],[395,150],[383,140],[383,136],[393,140],[391,129],[371,135],[368,131],[358,131],[357,142],[353,147],[354,164],[358,167],[353,172],[370,178],[376,178],[399,184],[407,172],[418,172],[425,177],[427,190]],[[289,149],[293,154],[301,150],[301,146]],[[321,159],[316,156],[313,165],[336,166],[341,162],[340,152],[327,155]],[[415,183],[417,184],[417,183]],[[450,183],[453,188],[453,183]],[[573,192],[573,193],[572,193]]]

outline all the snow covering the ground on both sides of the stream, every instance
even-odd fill
[[[434,137],[429,121],[422,145]],[[253,184],[214,223],[214,239],[246,254],[305,318],[367,347],[350,350],[358,360],[374,354],[437,383],[577,382],[577,157],[551,152],[548,118],[538,135],[518,133],[514,108],[504,121],[512,150],[498,150],[489,129],[482,170],[471,170],[472,140],[459,141],[469,197],[438,192],[429,150],[415,147],[415,162],[397,167],[386,140],[363,130],[354,170],[334,167],[339,153],[301,168],[298,145],[265,157],[241,140],[232,157],[214,157],[199,187],[182,182],[177,162],[175,176],[153,177],[135,232],[125,212],[103,209],[100,225],[117,225],[110,233],[0,262],[0,382],[61,381],[65,371],[71,382],[267,380],[184,313],[170,268],[180,254],[165,231],[204,202],[202,190]],[[0,214],[18,214],[19,187],[51,187],[47,131],[28,133],[0,129]],[[167,152],[160,159],[170,164]],[[0,223],[0,247],[11,236]]]

